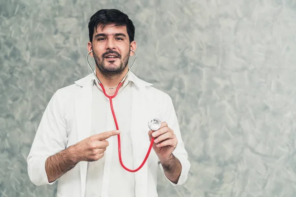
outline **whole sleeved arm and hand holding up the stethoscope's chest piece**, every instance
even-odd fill
[[[154,137],[153,150],[155,151],[159,161],[160,169],[165,177],[173,186],[185,183],[190,163],[182,140],[178,119],[172,103],[172,99],[168,96],[165,106],[166,113],[161,123],[161,128],[157,131],[149,131],[149,137]],[[157,146],[158,145],[158,146]]]

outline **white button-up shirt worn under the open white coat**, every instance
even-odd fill
[[[130,136],[132,83],[127,77],[116,97],[112,99],[114,113],[121,131],[122,162],[130,169],[134,168]],[[96,81],[94,81],[92,97],[92,134],[116,130],[110,101]],[[126,171],[119,163],[117,136],[107,139],[107,141],[110,140],[112,140],[112,146],[107,147],[104,157],[96,162],[88,162],[85,197],[119,197],[122,194],[126,197],[135,197],[134,173]]]

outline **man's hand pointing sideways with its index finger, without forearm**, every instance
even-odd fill
[[[109,142],[106,140],[113,135],[118,135],[120,131],[106,131],[92,135],[73,145],[73,156],[76,162],[94,162],[104,156]]]

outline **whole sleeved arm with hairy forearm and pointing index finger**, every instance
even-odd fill
[[[109,145],[105,140],[116,131],[90,136],[66,149],[67,126],[64,119],[65,97],[57,91],[50,99],[27,158],[30,180],[37,186],[53,184],[80,161],[96,161]]]

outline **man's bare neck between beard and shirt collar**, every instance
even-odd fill
[[[128,65],[124,68],[123,72],[118,75],[113,76],[106,76],[103,74],[98,66],[96,66],[96,75],[106,88],[113,88],[119,84],[119,82],[122,80],[122,78],[125,76],[125,74],[128,72]],[[116,89],[116,88],[114,88]]]

